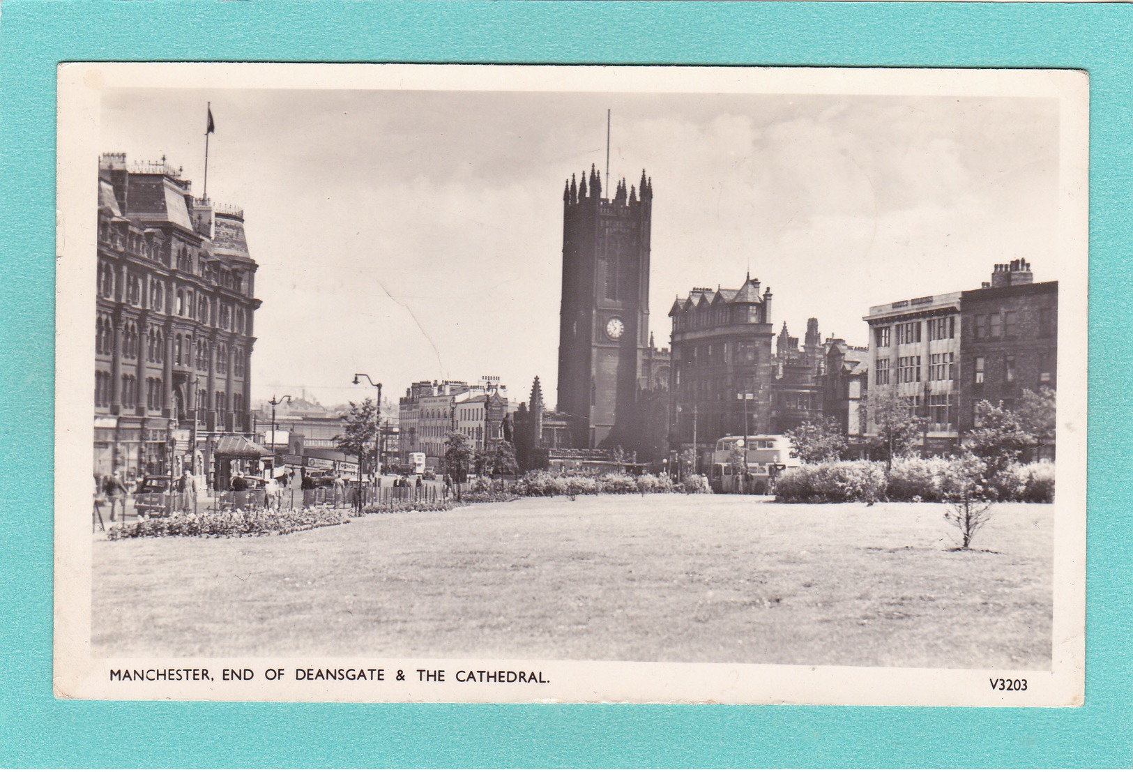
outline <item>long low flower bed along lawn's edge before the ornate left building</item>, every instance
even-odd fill
[[[310,531],[349,523],[343,509],[309,508],[288,511],[230,509],[219,512],[173,512],[169,517],[152,517],[107,532],[110,540],[148,536],[266,536]]]

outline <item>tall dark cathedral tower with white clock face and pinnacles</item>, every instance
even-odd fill
[[[563,190],[559,412],[581,448],[638,444],[638,377],[649,346],[653,183],[603,197],[593,166]]]

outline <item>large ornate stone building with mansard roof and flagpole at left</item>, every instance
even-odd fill
[[[242,211],[194,197],[164,159],[107,153],[96,260],[95,474],[215,472],[220,441],[253,432],[261,302]]]

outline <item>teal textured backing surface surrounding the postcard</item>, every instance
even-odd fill
[[[1130,766],[1133,7],[7,0],[0,44],[0,766]],[[82,60],[1089,70],[1085,706],[54,699],[56,66]]]

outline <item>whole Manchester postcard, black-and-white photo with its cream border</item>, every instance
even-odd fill
[[[1087,93],[62,66],[57,695],[1081,704]]]

